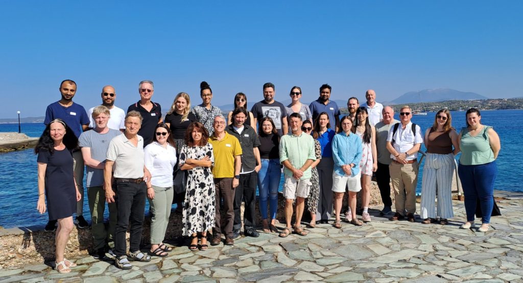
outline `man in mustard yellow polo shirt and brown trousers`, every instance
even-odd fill
[[[232,228],[234,222],[234,189],[238,186],[242,168],[242,146],[238,139],[225,132],[225,117],[214,117],[214,133],[209,138],[214,153],[214,186],[216,188],[216,214],[211,245],[219,245],[222,240],[222,227],[225,244],[233,245]],[[223,199],[225,219],[220,220],[220,201]]]

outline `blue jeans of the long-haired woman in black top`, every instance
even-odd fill
[[[258,171],[261,219],[276,219],[276,209],[278,208],[278,186],[280,185],[280,179],[280,160],[261,159],[261,169]],[[267,199],[270,200],[270,216],[267,215]]]

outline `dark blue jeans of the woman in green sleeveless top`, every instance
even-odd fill
[[[474,221],[476,213],[476,199],[480,199],[481,222],[490,223],[492,208],[494,207],[494,181],[496,180],[496,161],[479,165],[458,166],[458,175],[465,194],[465,211],[467,221]]]

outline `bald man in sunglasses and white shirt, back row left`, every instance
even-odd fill
[[[123,111],[123,109],[115,106],[115,99],[116,99],[116,91],[115,88],[112,86],[105,86],[101,89],[101,105],[105,106],[109,109],[111,112],[111,116],[109,118],[109,121],[107,122],[107,127],[110,129],[116,129],[121,132],[125,131],[126,126],[124,124],[124,120],[126,118],[126,112]],[[87,115],[89,116],[89,128],[93,129],[96,125],[95,121],[93,120],[93,110],[95,107],[89,109],[87,111]]]

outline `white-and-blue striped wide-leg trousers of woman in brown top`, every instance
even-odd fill
[[[422,219],[452,218],[452,174],[454,173],[453,154],[427,154],[423,167],[422,180]],[[436,207],[436,192],[438,202]],[[437,208],[437,212],[436,212]]]

